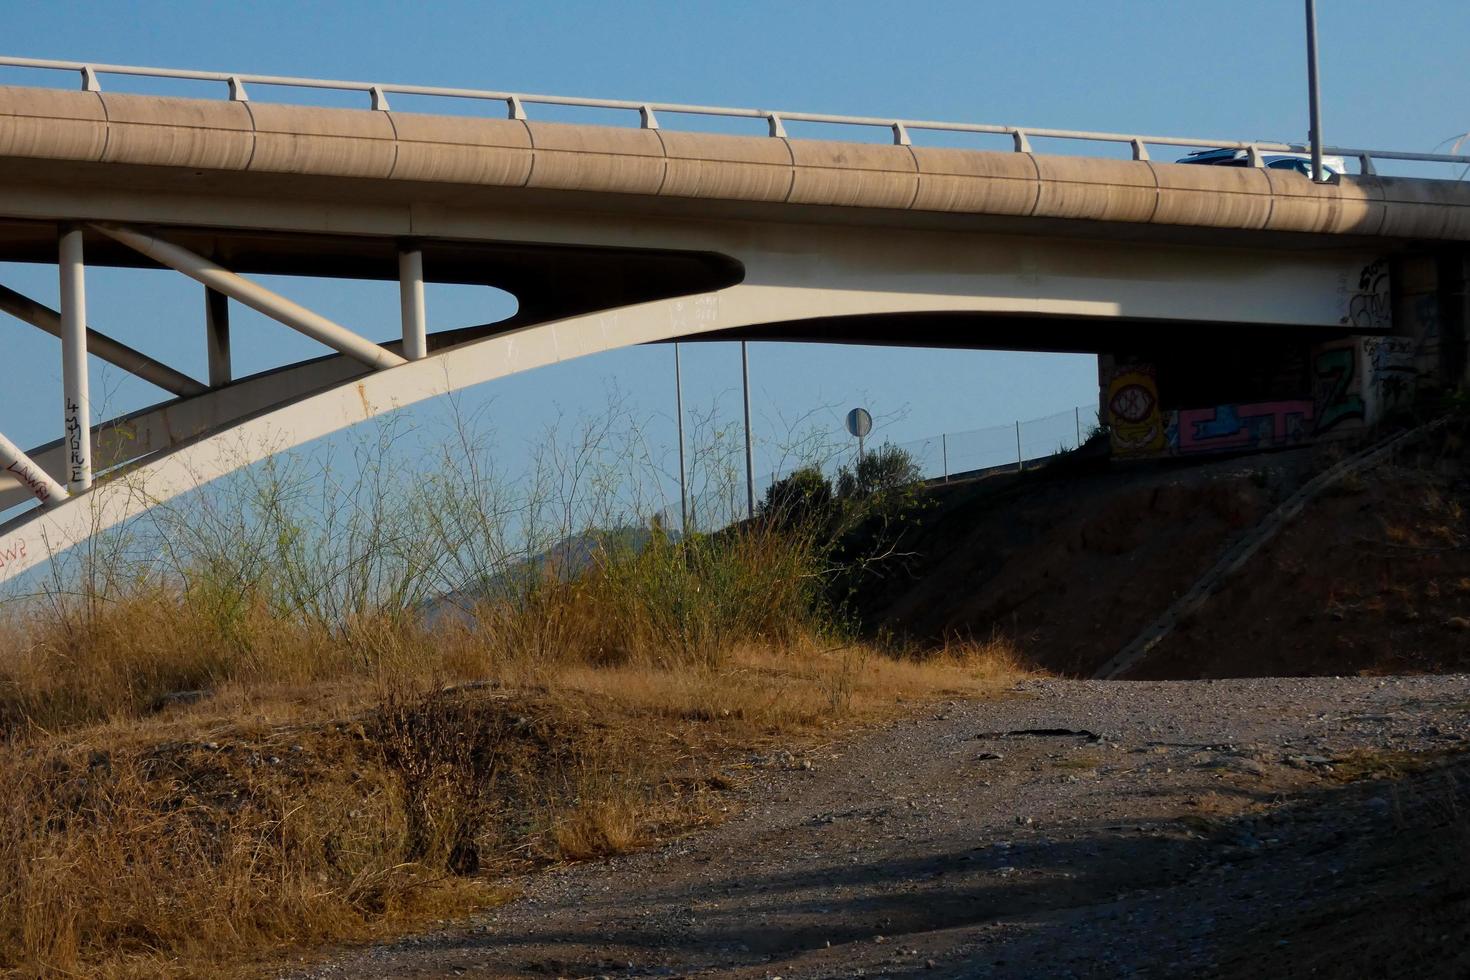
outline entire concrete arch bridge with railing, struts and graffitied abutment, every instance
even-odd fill
[[[1239,445],[1241,432],[1261,432],[1250,419],[1280,438],[1299,433],[1304,416],[1314,426],[1329,413],[1372,422],[1385,400],[1372,370],[1408,363],[1416,379],[1464,378],[1470,184],[1377,170],[1470,165],[1466,156],[1329,147],[1361,172],[1314,182],[1264,166],[1264,154],[1304,151],[1297,144],[19,57],[0,66],[81,79],[74,90],[0,87],[0,262],[54,263],[62,285],[59,310],[3,287],[0,309],[60,338],[65,388],[62,439],[22,450],[0,435],[0,510],[38,501],[0,525],[0,582],[262,454],[632,344],[1100,353],[1123,451],[1164,450],[1170,400],[1214,413],[1197,426],[1176,411],[1189,439],[1173,445],[1188,451],[1210,433]],[[220,98],[112,93],[112,75],[218,82]],[[365,104],[262,100],[281,85],[356,91]],[[478,100],[504,118],[392,109],[404,96]],[[632,125],[542,122],[541,106],[623,112]],[[747,120],[766,135],[673,128],[689,116]],[[885,141],[788,132],[819,123]],[[936,132],[1007,145],[923,145]],[[1113,145],[1122,159],[1036,150],[1055,141]],[[1250,166],[1151,157],[1176,147],[1239,148]],[[88,319],[88,266],[165,267],[200,282],[196,339],[178,329],[181,342],[206,345],[207,378],[109,338],[106,310]],[[397,281],[401,335],[366,338],[253,273]],[[519,310],[429,332],[425,281],[498,287]],[[332,353],[237,378],[231,301]],[[1200,357],[1205,344],[1219,353]],[[1250,348],[1286,351],[1254,360],[1314,361],[1289,383],[1222,370]],[[165,398],[93,419],[88,353]],[[1323,359],[1336,367],[1324,373]],[[1302,385],[1326,385],[1338,404],[1295,398]],[[1185,408],[1188,392],[1200,407]]]

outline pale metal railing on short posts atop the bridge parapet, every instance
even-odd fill
[[[387,82],[356,82],[326,78],[294,78],[287,75],[251,75],[247,72],[200,72],[176,68],[140,68],[137,65],[101,65],[96,62],[62,62],[37,57],[0,56],[0,68],[37,68],[81,75],[84,91],[101,91],[101,75],[134,75],[143,78],[173,78],[187,81],[222,82],[229,98],[248,101],[247,85],[278,85],[288,88],[316,88],[332,91],[363,93],[373,110],[388,110],[388,96],[431,96],[442,98],[473,98],[506,103],[509,119],[526,119],[526,106],[573,106],[579,109],[617,109],[637,112],[644,129],[659,129],[659,113],[719,116],[732,119],[764,119],[772,137],[786,138],[785,123],[814,122],[845,126],[882,128],[892,131],[897,145],[910,145],[911,132],[966,132],[980,135],[1010,137],[1017,153],[1030,153],[1033,138],[1080,140],[1088,143],[1117,143],[1132,150],[1135,160],[1148,160],[1148,145],[1163,147],[1219,147],[1245,150],[1252,166],[1264,166],[1263,153],[1308,153],[1304,143],[1273,143],[1261,140],[1208,140],[1194,137],[1148,137],[1122,132],[1091,132],[1085,129],[1044,129],[1035,126],[1004,126],[970,122],[942,122],[933,119],[885,119],[879,116],[838,116],[819,112],[785,112],[770,109],[732,109],[726,106],[689,106],[664,101],[632,101],[625,98],[579,98],[573,96],[534,96],[526,93],[491,91],[481,88],[442,88],[437,85],[400,85]],[[1455,153],[1402,153],[1396,150],[1361,150],[1349,147],[1324,147],[1324,153],[1357,159],[1363,173],[1376,173],[1374,160],[1410,160],[1419,163],[1457,163],[1470,166],[1470,154]]]

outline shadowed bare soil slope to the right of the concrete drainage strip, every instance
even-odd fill
[[[1470,669],[1470,473],[1427,447],[1310,505],[1133,677]]]

